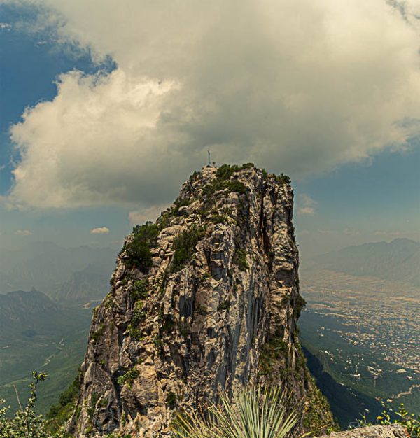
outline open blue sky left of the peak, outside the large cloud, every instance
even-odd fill
[[[92,62],[88,50],[57,48],[50,31],[28,33],[15,29],[22,19],[36,20],[37,11],[13,5],[0,6],[0,195],[7,196],[13,183],[13,162],[19,160],[10,141],[9,128],[21,120],[28,106],[48,101],[57,94],[55,82],[60,73],[80,69],[86,73],[109,71],[110,60]],[[10,27],[9,27],[10,26]],[[72,49],[72,50],[70,50]],[[53,189],[52,189],[53,190]],[[0,245],[20,247],[30,241],[55,241],[64,246],[118,245],[130,229],[127,212],[119,208],[78,211],[19,211],[0,206]],[[105,239],[94,239],[90,229],[103,223],[111,226]],[[16,234],[16,232],[29,231]]]

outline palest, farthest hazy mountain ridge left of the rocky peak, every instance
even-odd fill
[[[42,290],[59,302],[83,304],[102,299],[115,266],[112,248],[63,248],[31,243],[18,250],[0,250],[0,293]]]

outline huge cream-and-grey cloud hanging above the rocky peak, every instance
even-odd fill
[[[146,208],[172,199],[207,148],[302,178],[419,134],[414,2],[41,3],[61,41],[118,67],[64,73],[11,129],[15,206]]]

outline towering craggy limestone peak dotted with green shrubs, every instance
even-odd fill
[[[169,436],[179,409],[250,383],[289,390],[302,428],[332,421],[297,339],[292,214],[287,177],[204,167],[134,229],[92,320],[76,437]]]

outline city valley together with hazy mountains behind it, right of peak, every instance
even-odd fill
[[[307,300],[302,344],[337,383],[352,389],[342,393],[351,409],[339,392],[332,402],[343,423],[361,413],[374,421],[381,411],[377,397],[420,411],[419,254],[419,243],[395,239],[319,256],[300,270]],[[328,390],[323,383],[321,389]]]

